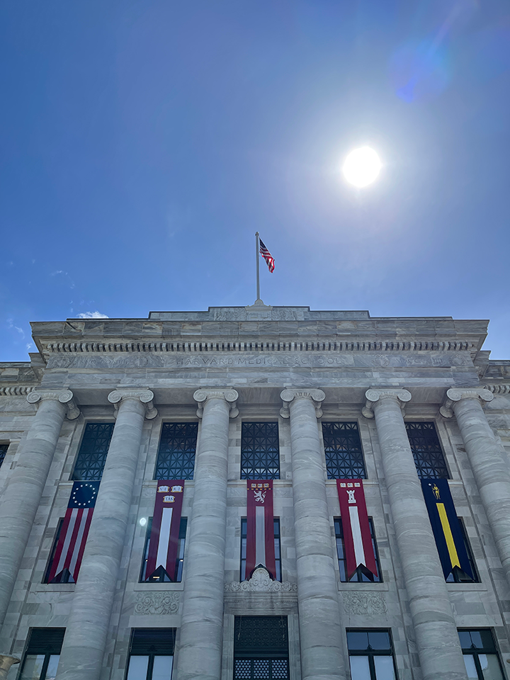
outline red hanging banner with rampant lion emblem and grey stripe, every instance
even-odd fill
[[[273,480],[248,480],[246,490],[246,580],[259,565],[274,580]]]

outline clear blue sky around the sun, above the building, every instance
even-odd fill
[[[0,360],[252,304],[257,229],[266,304],[491,319],[510,358],[509,86],[507,0],[5,0]]]

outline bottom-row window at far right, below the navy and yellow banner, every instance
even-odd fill
[[[467,677],[475,680],[503,680],[503,672],[492,631],[459,630]]]

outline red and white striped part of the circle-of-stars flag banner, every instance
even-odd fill
[[[94,508],[67,508],[48,582],[68,569],[76,582]]]

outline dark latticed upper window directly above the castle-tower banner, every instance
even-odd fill
[[[365,480],[358,423],[322,423],[329,480]]]

